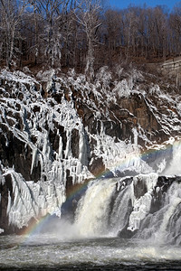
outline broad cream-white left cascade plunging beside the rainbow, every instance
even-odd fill
[[[115,188],[115,179],[90,182],[75,215],[79,235],[95,237],[108,233],[110,202]]]

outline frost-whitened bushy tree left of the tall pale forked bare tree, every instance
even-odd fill
[[[60,65],[62,58],[62,26],[65,24],[64,14],[67,11],[70,0],[33,0],[35,51],[38,52],[38,44],[41,42],[43,61],[51,67]],[[40,33],[37,27],[37,18],[43,30]]]

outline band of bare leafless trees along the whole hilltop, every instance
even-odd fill
[[[0,0],[2,63],[71,67],[92,80],[101,65],[123,58],[160,61],[180,54],[180,3],[168,14],[165,6],[104,10],[105,1]]]

